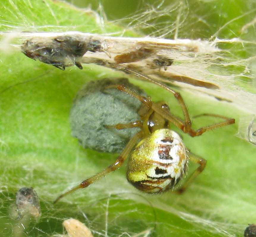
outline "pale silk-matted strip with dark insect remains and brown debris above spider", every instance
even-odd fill
[[[125,38],[81,32],[21,33],[21,51],[34,60],[61,70],[94,63],[138,76],[165,82],[182,82],[218,89],[216,84],[177,74],[177,67],[193,57],[209,57],[218,52],[214,43],[190,39]]]

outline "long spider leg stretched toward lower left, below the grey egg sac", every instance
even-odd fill
[[[135,144],[137,143],[137,141],[142,138],[143,136],[143,132],[139,131],[137,132],[132,138],[131,140],[127,143],[127,145],[125,146],[124,150],[122,151],[122,153],[120,154],[120,156],[117,157],[117,159],[115,160],[115,162],[111,165],[109,165],[106,169],[102,170],[101,172],[89,177],[86,180],[83,180],[79,185],[73,187],[72,189],[70,189],[69,191],[63,193],[62,195],[60,195],[59,197],[57,197],[54,201],[54,204],[59,201],[59,199],[65,197],[66,195],[73,193],[74,191],[80,189],[80,188],[86,188],[89,185],[93,184],[94,182],[96,182],[97,180],[101,179],[102,177],[105,177],[106,175],[108,175],[109,173],[117,170],[125,161],[125,159],[128,157],[130,151],[132,150],[132,148],[135,146]]]

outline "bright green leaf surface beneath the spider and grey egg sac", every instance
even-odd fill
[[[3,32],[72,30],[118,35],[124,31],[113,23],[100,25],[94,12],[61,1],[4,0],[1,4]],[[135,33],[125,31],[125,35]],[[242,236],[246,225],[256,222],[256,146],[235,137],[237,124],[200,137],[183,134],[186,146],[208,160],[205,171],[183,195],[171,191],[153,196],[140,193],[126,181],[123,166],[53,205],[63,190],[101,171],[117,156],[81,148],[70,136],[69,111],[85,82],[123,74],[95,65],[61,71],[29,59],[4,42],[0,63],[2,236],[61,234],[63,220],[71,217],[86,223],[95,236],[105,235],[105,231],[108,236],[125,232],[133,236],[149,228],[156,236]],[[153,100],[167,101],[172,112],[180,111],[167,91],[139,80],[132,82]],[[181,94],[191,117],[214,112],[238,121],[246,116],[231,103],[201,97],[193,91]],[[215,123],[214,118],[198,118],[193,120],[193,127],[211,123]],[[192,165],[190,170],[194,168]],[[39,222],[18,222],[11,214],[15,193],[26,186],[33,187],[40,198]],[[23,233],[21,223],[27,233]]]

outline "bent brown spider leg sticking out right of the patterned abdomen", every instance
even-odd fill
[[[205,169],[206,163],[207,161],[200,157],[197,156],[194,153],[189,152],[189,160],[193,161],[197,164],[199,164],[199,166],[197,167],[197,169],[191,174],[191,176],[188,178],[188,180],[186,180],[186,182],[184,182],[183,186],[181,188],[179,188],[176,192],[178,193],[183,193],[188,186],[190,185],[190,183],[199,175],[202,173],[202,171]]]

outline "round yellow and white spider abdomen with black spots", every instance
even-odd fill
[[[186,148],[180,136],[170,129],[158,129],[131,153],[127,179],[139,190],[161,193],[175,187],[186,164]]]

